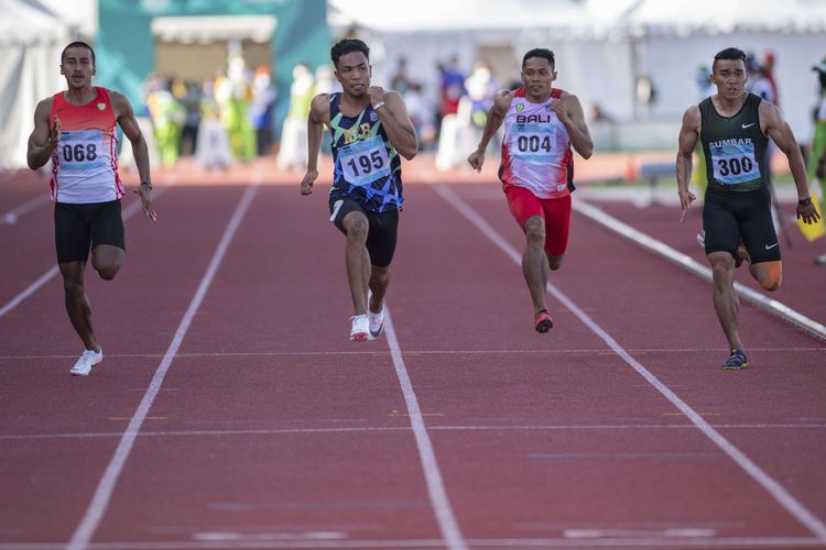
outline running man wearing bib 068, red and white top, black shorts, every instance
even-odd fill
[[[37,169],[52,161],[57,264],[66,312],[84,342],[84,352],[69,372],[86,376],[104,359],[84,289],[89,250],[93,267],[106,280],[115,278],[126,257],[116,124],[132,144],[141,178],[134,193],[146,217],[152,221],[156,217],[150,199],[149,151],[129,100],[91,85],[95,52],[85,42],[73,42],[63,50],[61,74],[68,89],[37,103],[28,162],[30,168]]]

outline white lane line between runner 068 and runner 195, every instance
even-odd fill
[[[161,384],[163,384],[166,371],[169,371],[173,359],[175,359],[175,353],[178,348],[181,348],[184,337],[186,336],[187,330],[189,330],[189,324],[192,324],[192,320],[198,311],[198,308],[204,300],[204,296],[206,296],[206,293],[209,289],[209,285],[213,283],[213,277],[215,277],[218,267],[220,267],[220,264],[224,261],[229,243],[235,237],[235,233],[247,213],[247,209],[252,202],[252,198],[256,196],[258,189],[258,184],[250,185],[238,201],[236,211],[229,220],[227,229],[224,231],[224,235],[218,243],[213,260],[209,262],[209,266],[207,267],[204,277],[200,279],[198,289],[195,292],[195,296],[193,297],[189,307],[186,309],[184,318],[181,320],[181,324],[172,339],[172,343],[170,343],[166,354],[157,366],[155,374],[152,376],[152,381],[150,382],[146,393],[143,395],[143,399],[141,399],[141,403],[138,406],[138,410],[135,410],[132,419],[129,421],[129,426],[127,426],[123,437],[118,443],[118,448],[115,450],[115,454],[109,461],[106,472],[95,490],[95,495],[91,498],[89,507],[86,509],[80,524],[72,536],[72,540],[69,540],[67,547],[68,550],[81,550],[87,548],[91,537],[95,535],[95,530],[100,524],[100,519],[104,517],[104,513],[109,505],[109,499],[115,491],[118,476],[129,458],[129,453],[132,450],[132,446],[134,444],[134,440],[141,429],[141,425],[143,425],[143,420],[146,418],[149,409],[152,407],[152,403],[155,400],[155,396],[157,396],[157,392],[161,389]]]

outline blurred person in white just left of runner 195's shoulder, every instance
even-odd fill
[[[281,148],[275,164],[281,169],[303,170],[307,167],[307,116],[315,87],[313,74],[303,63],[293,67],[290,86],[290,109],[281,130]]]

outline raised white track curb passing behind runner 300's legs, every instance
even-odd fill
[[[664,242],[657,241],[651,235],[648,235],[642,231],[638,231],[631,226],[619,221],[608,212],[593,205],[588,205],[587,202],[583,202],[582,200],[577,200],[574,202],[574,210],[582,213],[591,221],[595,221],[600,226],[624,237],[626,239],[642,246],[643,249],[657,254],[659,256],[683,267],[684,270],[687,270],[689,273],[693,273],[708,282],[714,280],[711,276],[711,270],[708,266],[696,262],[688,254],[683,254],[682,252],[672,249]],[[811,334],[818,340],[826,342],[826,326],[815,321],[814,319],[809,319],[800,311],[790,308],[785,304],[769,298],[768,296],[753,290],[743,284],[738,283],[737,280],[735,282],[735,292],[737,292],[737,295],[740,297],[740,299],[746,300],[752,306],[756,306],[757,308],[762,309],[763,311],[767,311],[774,317],[779,317],[785,322],[803,330],[807,334]]]

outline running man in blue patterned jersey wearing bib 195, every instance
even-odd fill
[[[358,38],[336,43],[330,57],[343,91],[313,98],[307,120],[309,150],[302,195],[318,178],[318,150],[326,125],[335,166],[330,221],[345,234],[345,263],[352,298],[350,341],[381,334],[390,262],[395,252],[402,196],[399,155],[416,155],[416,132],[396,91],[370,86],[370,48]],[[369,301],[369,304],[368,304]]]

